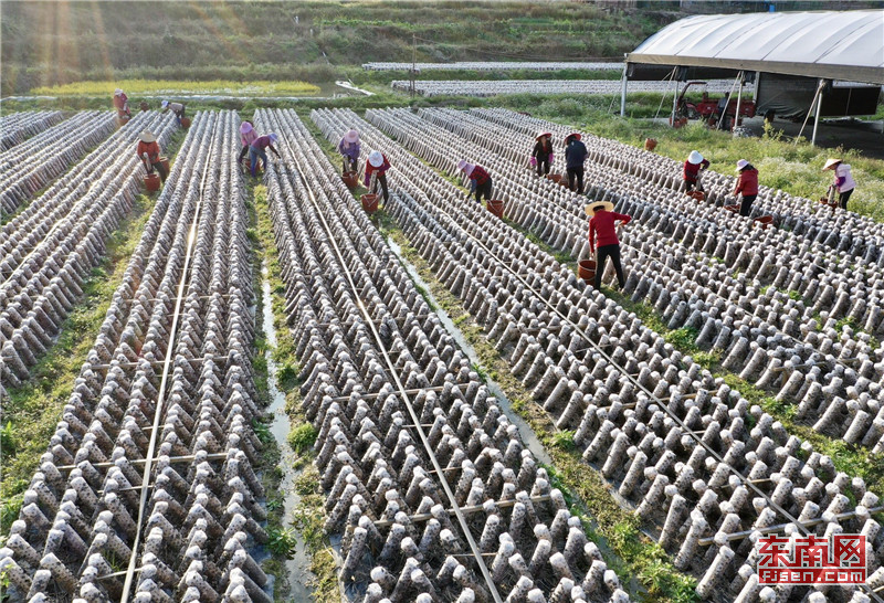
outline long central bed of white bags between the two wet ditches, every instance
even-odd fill
[[[346,131],[326,117],[314,113],[332,138]],[[350,596],[628,601],[296,114],[260,112],[256,124],[288,141],[269,201]]]

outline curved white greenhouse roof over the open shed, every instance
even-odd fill
[[[627,62],[884,85],[884,10],[688,17],[645,40]]]

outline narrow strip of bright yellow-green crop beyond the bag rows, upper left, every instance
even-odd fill
[[[114,95],[114,89],[122,88],[127,96],[188,93],[188,94],[225,94],[233,96],[299,96],[318,94],[319,86],[306,82],[233,82],[231,80],[211,80],[207,82],[178,80],[117,80],[112,82],[73,82],[56,86],[38,86],[31,94],[61,96],[105,96]]]

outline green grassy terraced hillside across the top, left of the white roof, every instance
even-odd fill
[[[2,93],[83,80],[328,82],[369,61],[589,61],[674,21],[672,3],[2,2]]]

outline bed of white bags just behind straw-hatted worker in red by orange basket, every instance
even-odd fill
[[[485,157],[490,151],[509,152],[512,160],[491,165],[493,170],[513,173],[522,190],[504,182],[499,197],[513,200],[511,207],[518,200],[546,212],[548,221],[535,223],[529,213],[522,214],[522,224],[539,229],[550,245],[576,257],[587,252],[583,201],[564,189],[549,191],[546,182],[524,173],[522,157],[512,152],[529,145],[528,136],[460,112],[429,110],[421,116],[480,145],[455,137],[453,148],[461,145]],[[520,118],[511,117],[513,121]],[[403,119],[412,120],[417,130],[428,127],[417,118]],[[434,129],[424,129],[424,135],[444,136]],[[623,236],[630,266],[625,293],[633,300],[648,300],[670,328],[696,329],[696,342],[720,351],[725,368],[745,379],[758,379],[759,385],[775,387],[781,401],[800,401],[799,419],[880,452],[884,446],[884,411],[878,402],[882,349],[871,347],[867,334],[834,330],[839,319],[850,317],[871,332],[880,331],[882,316],[874,303],[881,296],[880,268],[867,265],[866,278],[840,274],[820,263],[824,250],[812,240],[785,230],[761,230],[709,204],[690,201],[686,207],[684,197],[667,186],[674,178],[651,169],[624,173],[610,156],[598,151],[594,137],[586,138],[591,149],[588,180],[594,182],[590,195],[612,198],[619,211],[636,218]],[[442,159],[439,167],[452,169],[452,157]],[[538,197],[532,187],[546,192]],[[846,252],[842,256],[856,261]],[[743,271],[736,277],[735,268]],[[820,286],[821,282],[825,285]],[[792,299],[786,290],[809,303]]]

